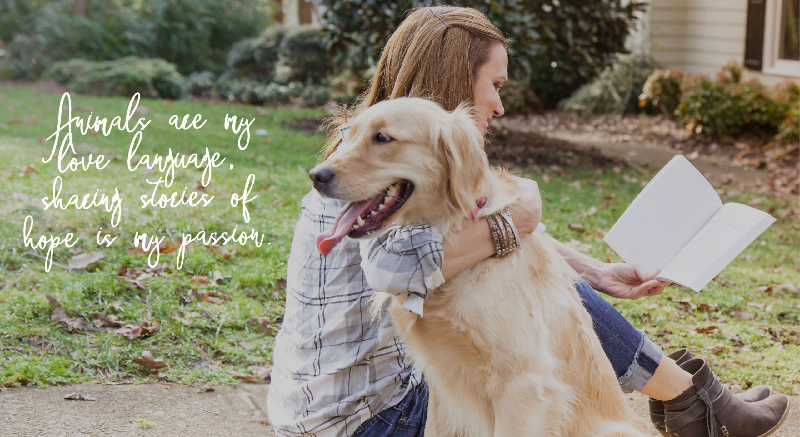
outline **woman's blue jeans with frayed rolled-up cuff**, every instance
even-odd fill
[[[661,348],[634,328],[585,280],[575,284],[575,288],[592,316],[594,332],[614,367],[620,387],[629,393],[641,391],[661,361]],[[422,437],[427,416],[428,386],[423,380],[400,403],[362,423],[353,437]]]

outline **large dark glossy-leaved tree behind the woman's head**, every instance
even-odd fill
[[[386,40],[414,7],[440,5],[443,0],[321,0],[327,45],[341,54],[352,47],[349,67],[360,74],[374,65]],[[554,107],[562,98],[590,81],[625,51],[642,3],[608,0],[458,0],[448,4],[472,6],[500,30],[511,35],[514,56],[510,77],[520,85],[508,109],[530,112]]]

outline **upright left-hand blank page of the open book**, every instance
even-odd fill
[[[665,268],[721,208],[714,187],[678,155],[642,189],[603,240],[623,260],[652,272]]]

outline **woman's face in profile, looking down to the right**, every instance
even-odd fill
[[[501,43],[495,43],[489,50],[489,60],[478,67],[474,80],[476,121],[481,132],[487,133],[492,118],[506,112],[499,91],[508,80],[508,54]]]

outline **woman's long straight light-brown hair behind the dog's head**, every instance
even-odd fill
[[[474,100],[474,74],[489,58],[490,47],[502,32],[480,11],[461,6],[431,6],[414,10],[390,36],[375,76],[360,96],[352,114],[396,97],[422,97],[452,111],[462,101]],[[346,123],[347,109],[328,125],[325,156],[334,153]]]

